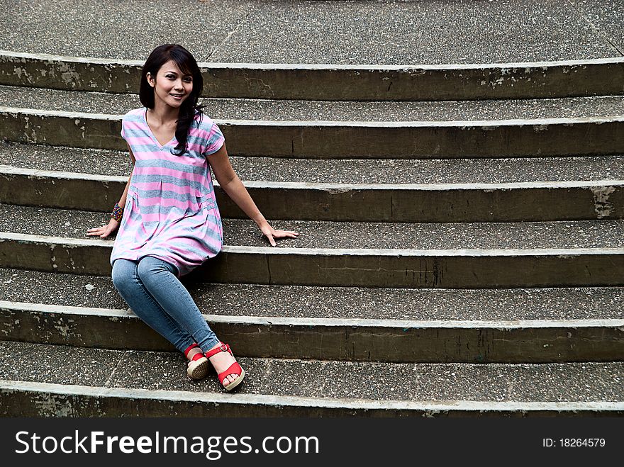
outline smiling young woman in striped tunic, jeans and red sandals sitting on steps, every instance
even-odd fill
[[[145,107],[126,113],[122,121],[133,173],[108,225],[87,235],[108,237],[119,229],[111,264],[123,299],[184,352],[191,378],[204,378],[209,361],[231,390],[245,371],[178,280],[216,256],[223,243],[209,167],[272,246],[275,239],[298,234],[275,230],[255,206],[230,165],[221,130],[197,105],[203,86],[197,62],[184,47],[166,44],[152,51],[140,83]]]

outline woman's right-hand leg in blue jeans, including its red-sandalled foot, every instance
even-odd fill
[[[191,294],[178,280],[175,272],[177,271],[172,264],[155,257],[144,257],[137,266],[140,281],[162,309],[194,337],[204,352],[214,349],[220,344],[219,339],[204,320]],[[228,352],[219,352],[211,356],[210,361],[217,373],[225,371],[235,363],[234,357]],[[230,374],[223,383],[226,386],[233,383],[236,378],[238,374]]]

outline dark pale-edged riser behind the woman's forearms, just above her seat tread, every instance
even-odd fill
[[[0,168],[0,203],[108,213],[126,177]],[[624,218],[624,182],[310,184],[246,182],[264,216],[365,222],[520,222]],[[221,213],[247,218],[216,184]],[[284,203],[284,200],[288,203]]]

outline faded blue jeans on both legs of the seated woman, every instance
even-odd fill
[[[176,274],[175,266],[155,257],[113,263],[113,283],[141,320],[179,351],[196,342],[206,352],[219,339]]]

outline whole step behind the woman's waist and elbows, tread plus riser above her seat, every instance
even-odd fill
[[[624,158],[618,155],[384,161],[233,157],[232,162],[264,215],[273,219],[516,222],[624,217]],[[132,169],[123,152],[7,142],[0,144],[0,166],[0,202],[103,212],[121,197]],[[218,184],[216,194],[223,215],[246,217]]]

